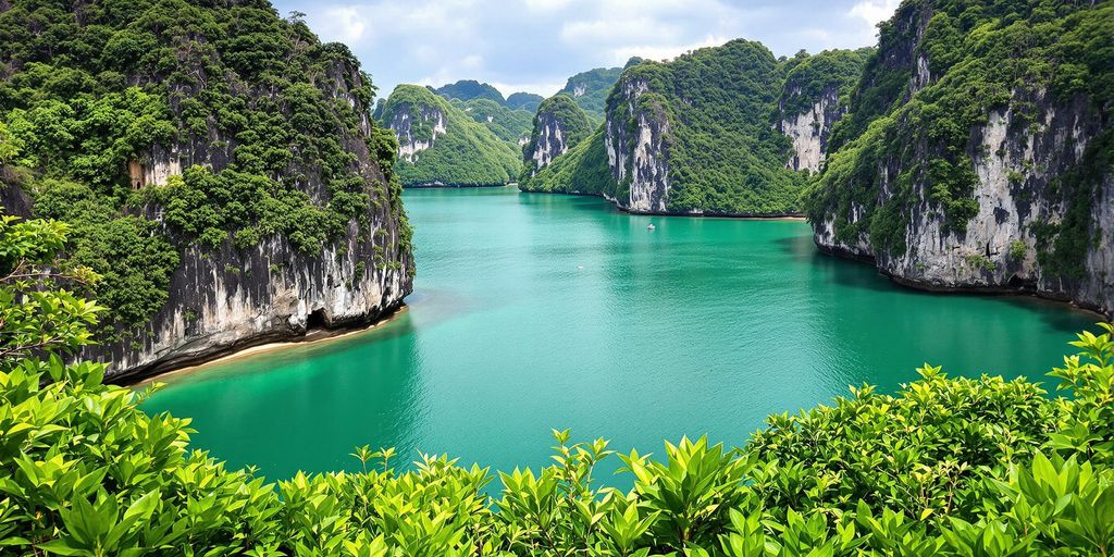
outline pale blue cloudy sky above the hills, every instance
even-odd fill
[[[398,84],[477,79],[549,96],[632,56],[674,58],[731,39],[774,55],[874,45],[899,0],[275,0],[346,43],[387,96]]]

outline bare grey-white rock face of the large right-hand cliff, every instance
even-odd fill
[[[1067,104],[1052,102],[1042,92],[1015,99],[1039,107],[1039,126],[1018,129],[1018,115],[1010,108],[994,110],[987,124],[971,133],[970,155],[978,180],[974,198],[977,214],[966,232],[945,227],[939,206],[931,202],[930,184],[918,183],[905,228],[903,253],[876,252],[869,234],[852,241],[837,238],[834,218],[815,223],[814,240],[822,250],[873,260],[879,270],[895,280],[929,290],[1029,292],[1056,300],[1072,300],[1082,306],[1110,314],[1114,311],[1114,179],[1107,173],[1094,184],[1086,218],[1093,224],[1094,242],[1088,244],[1077,276],[1040,265],[1039,233],[1049,224],[1063,223],[1076,206],[1057,190],[1057,178],[1072,172],[1102,133],[1098,117],[1085,98]],[[879,205],[897,189],[890,178],[900,165],[881,168],[883,183]],[[852,206],[852,225],[867,217],[862,206]]]

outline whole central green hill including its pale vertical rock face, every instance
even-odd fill
[[[818,101],[838,75],[857,75],[859,53],[830,51],[778,60],[761,43],[736,40],[700,49],[670,62],[629,66],[607,99],[607,121],[599,138],[619,154],[622,166],[583,156],[570,168],[559,160],[529,186],[534,190],[606,193],[632,211],[705,214],[784,214],[799,211],[802,174],[785,168],[790,140],[772,125],[786,98],[786,76],[803,80],[792,102]],[[642,150],[636,141],[651,138]],[[569,153],[566,157],[570,157]],[[590,177],[592,182],[568,182]],[[632,194],[632,189],[635,189]],[[647,193],[648,192],[648,193]],[[637,206],[628,198],[653,198]]]

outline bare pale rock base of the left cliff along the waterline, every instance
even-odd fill
[[[371,323],[398,309],[412,289],[413,262],[382,262],[397,233],[379,222],[368,235],[352,224],[315,256],[272,237],[248,250],[186,250],[170,280],[170,302],[133,341],[91,351],[113,362],[116,381],[203,362],[312,329]],[[380,263],[375,263],[380,261]],[[398,261],[398,260],[395,260]]]

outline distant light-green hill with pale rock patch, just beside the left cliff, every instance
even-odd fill
[[[399,140],[395,170],[404,185],[501,185],[518,176],[511,143],[424,87],[398,86],[381,118]]]

